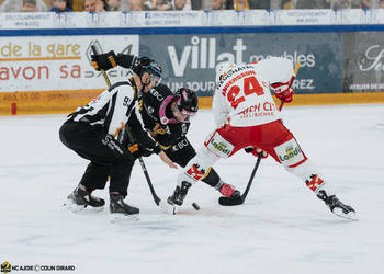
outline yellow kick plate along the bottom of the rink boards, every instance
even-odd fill
[[[0,115],[70,113],[103,90],[1,92]],[[279,103],[279,102],[278,102]],[[296,94],[291,105],[384,103],[384,92]],[[199,98],[200,109],[211,109],[212,96]]]

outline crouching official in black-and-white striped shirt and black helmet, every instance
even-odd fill
[[[142,58],[133,71],[128,81],[113,84],[86,106],[78,107],[60,127],[61,142],[91,161],[79,185],[68,196],[77,205],[103,206],[105,202],[91,193],[103,189],[110,176],[110,212],[138,214],[138,208],[124,202],[135,159],[150,151],[170,168],[177,168],[144,127],[137,126],[140,125],[137,101],[143,90],[150,90],[160,82],[161,67],[155,60]],[[140,136],[142,141],[129,148],[118,136],[128,119],[136,125],[135,135]]]

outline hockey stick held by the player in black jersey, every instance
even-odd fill
[[[98,49],[97,49],[97,47],[95,47],[94,45],[91,46],[91,49],[92,49],[92,52],[93,52],[94,55],[98,54]],[[106,85],[110,88],[110,87],[111,87],[111,81],[110,81],[110,78],[108,77],[105,70],[101,69],[100,71],[101,71],[101,73],[102,73],[103,77],[104,77],[104,80],[105,80],[105,82],[106,82]],[[128,134],[129,141],[131,141],[131,142],[135,142],[134,137],[132,136],[131,130],[126,129],[126,132],[127,132],[127,134]],[[149,190],[150,190],[150,194],[151,194],[151,196],[153,196],[153,198],[154,198],[155,204],[156,204],[157,206],[159,206],[161,209],[163,209],[165,212],[167,212],[167,213],[172,213],[172,214],[173,214],[173,210],[174,210],[173,206],[169,205],[167,202],[162,202],[161,198],[159,198],[159,196],[156,194],[156,191],[155,191],[155,189],[154,189],[153,182],[151,182],[151,180],[150,180],[150,178],[149,178],[149,173],[148,173],[148,170],[147,170],[147,168],[146,168],[146,165],[145,165],[145,163],[144,163],[144,161],[143,161],[143,158],[142,158],[142,157],[138,157],[138,160],[139,160],[139,162],[140,162],[143,173],[144,173],[144,175],[145,175],[145,179],[147,180],[147,183],[148,183],[148,186],[149,186]]]

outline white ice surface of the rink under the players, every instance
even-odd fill
[[[219,206],[218,192],[197,183],[179,214],[166,215],[136,163],[127,201],[140,208],[139,221],[111,222],[108,207],[72,214],[63,203],[88,162],[60,144],[63,121],[0,117],[0,264],[75,265],[69,273],[383,273],[383,104],[284,110],[285,125],[359,221],[331,215],[271,158],[241,206]],[[203,110],[189,138],[199,148],[212,129],[211,111]],[[156,156],[145,162],[159,196],[168,196],[181,169]],[[244,190],[255,162],[241,151],[215,169]],[[105,190],[95,195],[108,201]]]

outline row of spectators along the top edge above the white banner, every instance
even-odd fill
[[[384,9],[384,0],[0,0],[0,12]]]

